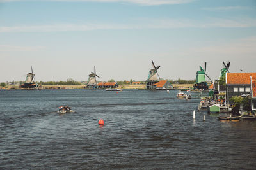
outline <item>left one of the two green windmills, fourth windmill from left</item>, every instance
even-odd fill
[[[204,62],[204,69],[199,66],[200,71],[196,72],[196,82],[194,85],[194,89],[195,90],[207,90],[208,89],[208,85],[207,82],[205,81],[205,76],[207,76],[209,78],[209,80],[211,80],[211,78],[205,73],[206,72],[206,62]]]

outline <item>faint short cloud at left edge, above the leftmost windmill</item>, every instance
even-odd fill
[[[0,45],[0,52],[35,52],[43,50],[45,46],[13,46]]]

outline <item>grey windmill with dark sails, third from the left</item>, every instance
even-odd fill
[[[158,83],[160,80],[159,74],[157,73],[157,70],[160,66],[155,66],[154,62],[152,61],[153,69],[150,69],[148,78],[146,80],[147,83],[147,89],[154,89],[154,84]]]

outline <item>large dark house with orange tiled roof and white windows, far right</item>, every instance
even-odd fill
[[[256,79],[256,73],[226,73],[227,104],[233,96],[251,96],[251,77]]]

